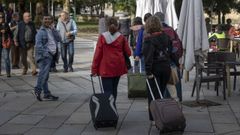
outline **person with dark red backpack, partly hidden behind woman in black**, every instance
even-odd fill
[[[182,84],[181,84],[181,75],[180,75],[180,59],[183,55],[183,47],[182,47],[182,42],[179,39],[176,31],[170,26],[168,26],[165,23],[165,15],[162,12],[157,12],[154,14],[156,17],[160,19],[161,25],[163,27],[163,32],[166,33],[170,40],[172,41],[172,61],[171,61],[171,68],[172,70],[177,71],[177,77],[178,77],[178,82],[175,83],[168,83],[167,84],[167,91],[165,93],[165,96],[168,96],[168,94],[171,95],[172,98],[176,99],[177,101],[182,101]]]

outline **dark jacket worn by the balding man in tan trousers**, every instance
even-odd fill
[[[24,21],[21,21],[18,23],[17,29],[16,29],[16,35],[15,40],[19,44],[19,47],[26,48],[26,41],[25,41],[25,27],[26,25],[30,26],[30,29],[32,30],[32,43],[35,43],[35,36],[36,36],[36,29],[33,22],[29,22],[26,24]]]

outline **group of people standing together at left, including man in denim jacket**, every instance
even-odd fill
[[[7,21],[9,15],[11,19]],[[42,101],[42,90],[44,99],[57,100],[58,97],[53,96],[48,89],[49,72],[57,72],[56,62],[60,54],[63,60],[63,72],[74,71],[76,22],[65,11],[61,12],[56,24],[54,18],[44,12],[40,18],[39,28],[35,27],[29,12],[23,13],[22,20],[19,18],[18,13],[0,12],[0,38],[2,39],[0,40],[0,75],[2,75],[2,56],[7,77],[11,77],[11,69],[20,68],[22,68],[22,75],[27,75],[30,67],[32,76],[38,75],[33,91],[37,100]]]

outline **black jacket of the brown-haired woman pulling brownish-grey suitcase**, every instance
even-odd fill
[[[147,75],[158,74],[161,66],[170,68],[171,44],[169,36],[162,32],[156,32],[144,38],[143,56]]]

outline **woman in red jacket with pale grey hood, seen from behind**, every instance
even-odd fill
[[[105,93],[117,98],[117,86],[120,76],[127,73],[124,54],[130,56],[131,51],[126,38],[118,32],[118,22],[109,18],[108,31],[102,33],[97,42],[92,63],[92,75],[102,78]]]

